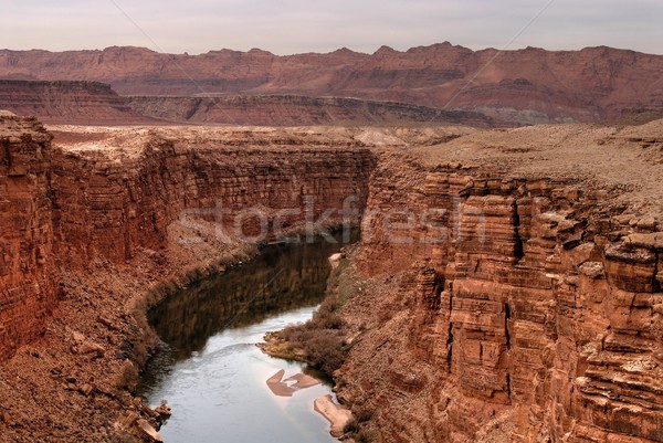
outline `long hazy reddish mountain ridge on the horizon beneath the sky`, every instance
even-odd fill
[[[373,54],[200,55],[143,48],[0,50],[0,78],[96,81],[120,95],[299,95],[402,102],[517,122],[615,119],[663,112],[663,55],[606,46],[580,51],[473,51],[448,42]]]

